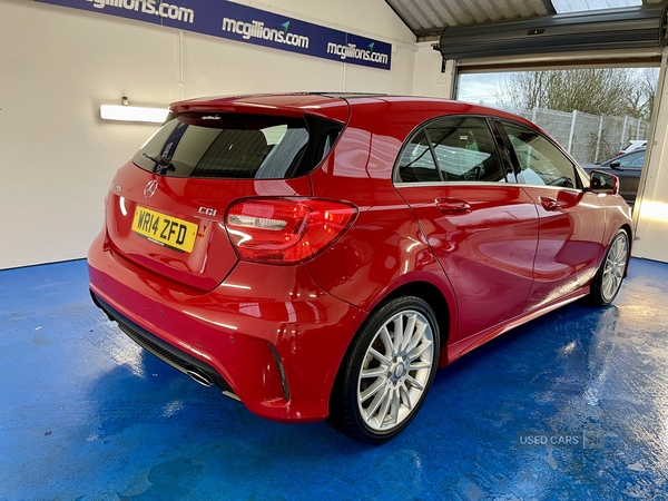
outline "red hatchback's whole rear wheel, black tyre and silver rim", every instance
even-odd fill
[[[424,299],[403,296],[375,310],[340,369],[328,423],[360,442],[394,439],[424,402],[439,343],[436,317]]]

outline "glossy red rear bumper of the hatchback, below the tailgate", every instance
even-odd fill
[[[218,287],[202,292],[135,265],[102,240],[88,255],[91,295],[127,335],[259,416],[327,416],[363,311],[324,292],[303,265],[240,262]]]

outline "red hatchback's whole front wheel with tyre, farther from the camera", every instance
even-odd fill
[[[589,303],[606,306],[615,299],[626,275],[629,262],[629,235],[619,229],[606,250],[606,257],[591,283]]]

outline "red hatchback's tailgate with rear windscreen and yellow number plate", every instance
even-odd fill
[[[306,174],[342,128],[294,112],[174,118],[114,179],[106,215],[111,248],[175,283],[213,289],[237,262],[223,223],[228,205],[248,196],[310,196]]]

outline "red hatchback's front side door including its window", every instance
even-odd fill
[[[534,283],[525,311],[584,286],[596,274],[602,253],[605,204],[583,190],[571,159],[533,128],[497,120],[509,143],[517,179],[536,203],[539,239]]]

